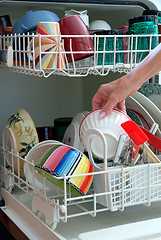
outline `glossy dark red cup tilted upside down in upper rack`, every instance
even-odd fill
[[[66,54],[68,62],[73,61],[72,54],[75,61],[90,57],[94,54],[94,46],[90,33],[79,15],[62,18],[59,20],[59,25],[62,35],[78,35],[77,37],[62,36],[65,51],[70,52]],[[87,37],[81,37],[81,35],[87,35]],[[80,51],[82,53],[78,53]]]

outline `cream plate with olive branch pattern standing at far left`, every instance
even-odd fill
[[[25,158],[30,149],[39,142],[35,124],[29,113],[21,108],[13,113],[3,131],[3,147],[14,154],[19,154],[21,158]],[[7,154],[5,160],[12,166],[12,155]],[[24,175],[24,161],[20,159],[18,169],[18,158],[14,157],[14,172],[20,176]]]

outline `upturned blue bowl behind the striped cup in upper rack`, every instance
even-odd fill
[[[59,17],[50,11],[29,11],[14,24],[12,34],[36,32],[37,24],[39,22],[58,22],[59,20]]]

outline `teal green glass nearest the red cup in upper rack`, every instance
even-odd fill
[[[115,35],[120,35],[120,30],[107,30],[97,32],[97,35],[102,35],[98,37],[98,51],[103,51],[98,53],[97,64],[98,65],[113,65],[116,63],[124,62],[124,53],[123,53],[123,38],[116,36],[116,51],[122,52],[114,52],[115,49]],[[104,35],[104,36],[103,36]],[[113,35],[108,37],[109,35]],[[105,51],[112,51],[106,52]]]

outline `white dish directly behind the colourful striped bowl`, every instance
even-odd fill
[[[43,176],[39,174],[37,171],[35,171],[34,166],[38,159],[44,154],[45,151],[47,151],[51,146],[54,146],[56,144],[62,144],[55,140],[45,140],[37,145],[35,145],[27,154],[26,156],[26,163],[24,165],[24,173],[26,176],[27,181],[34,186],[35,188],[39,190],[43,190]],[[34,170],[34,175],[33,175]],[[46,180],[45,181],[45,190],[51,191],[54,188],[53,183]]]

